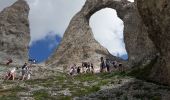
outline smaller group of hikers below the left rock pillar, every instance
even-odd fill
[[[28,63],[24,63],[24,65],[21,67],[9,68],[8,71],[5,73],[5,80],[15,80],[16,75],[19,73],[21,73],[21,75],[18,80],[29,80],[31,76],[31,66],[32,64],[35,64],[36,61],[34,59],[29,59],[28,61]],[[8,61],[6,62],[6,66],[9,66],[11,63],[13,63],[13,60],[8,59]]]

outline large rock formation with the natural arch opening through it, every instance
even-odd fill
[[[126,0],[87,0],[70,22],[56,52],[46,62],[49,66],[69,65],[82,61],[99,62],[100,57],[115,58],[95,39],[89,26],[90,17],[103,8],[113,8],[124,21],[124,38],[129,65],[152,59],[156,49],[148,37],[136,3]],[[104,34],[103,34],[104,35]]]

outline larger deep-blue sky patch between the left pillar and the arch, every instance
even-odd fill
[[[29,58],[36,59],[37,62],[45,61],[56,50],[61,39],[60,36],[53,34],[34,42],[29,49]]]

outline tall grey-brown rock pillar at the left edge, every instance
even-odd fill
[[[0,63],[12,58],[15,63],[28,59],[30,29],[29,6],[18,0],[0,13]]]

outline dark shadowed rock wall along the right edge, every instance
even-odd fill
[[[159,51],[150,78],[170,84],[170,3],[169,0],[137,0],[149,37]]]

